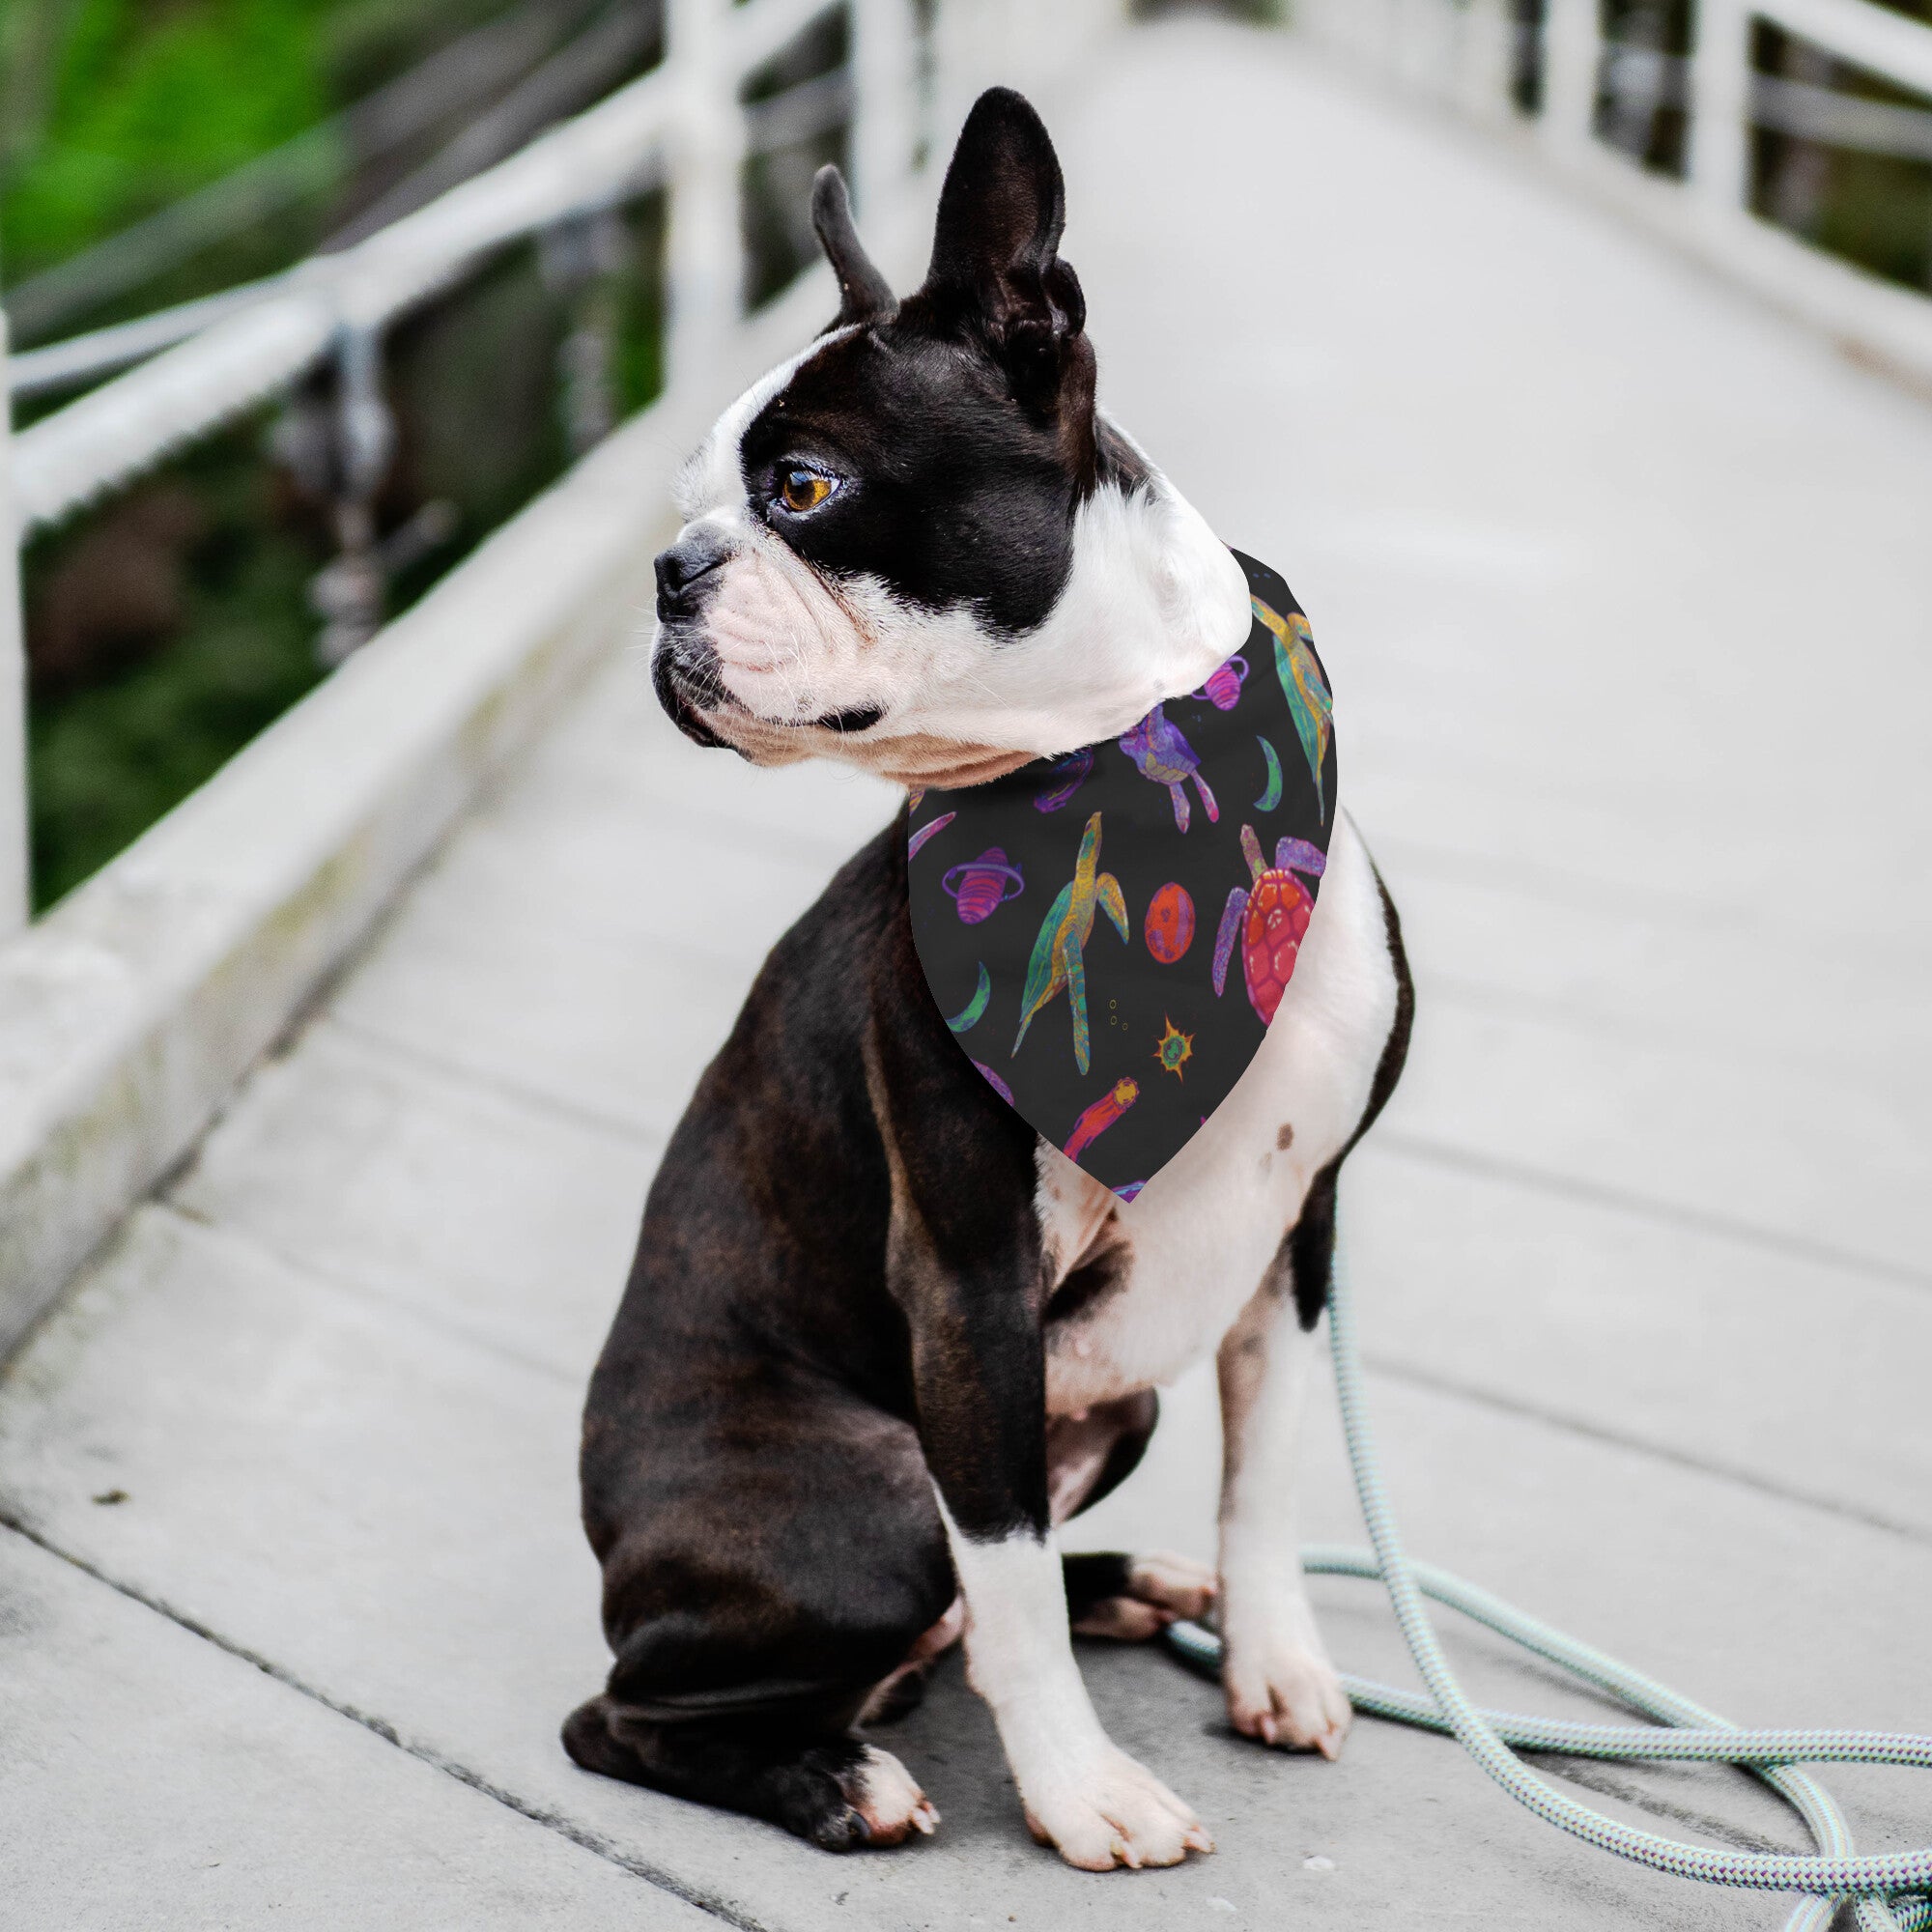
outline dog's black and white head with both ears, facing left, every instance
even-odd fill
[[[1117,734],[1248,632],[1238,564],[1094,408],[1059,162],[995,89],[895,301],[819,176],[838,321],[719,419],[657,558],[653,678],[701,744],[968,784]]]

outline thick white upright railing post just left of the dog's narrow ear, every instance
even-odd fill
[[[665,386],[709,388],[742,307],[738,168],[744,110],[726,71],[728,0],[668,0],[665,70],[676,89],[670,232],[665,240]]]

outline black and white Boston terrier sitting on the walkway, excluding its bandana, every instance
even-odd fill
[[[893,298],[844,185],[813,214],[837,323],[711,431],[657,558],[653,674],[759,765],[960,786],[1126,730],[1248,636],[1233,554],[1094,404],[1061,172],[980,99],[925,284]],[[904,819],[779,943],[651,1188],[583,1420],[609,1689],[578,1764],[829,1849],[937,1814],[856,1725],[964,1634],[1034,1835],[1072,1864],[1211,1843],[1109,1743],[1070,1629],[1219,1611],[1235,1727],[1341,1748],[1296,1559],[1296,1435],[1335,1173],[1403,1066],[1395,910],[1343,819],[1252,1066],[1132,1206],[960,1053],[906,916]],[[1068,1557],[1155,1385],[1219,1350],[1219,1571]]]

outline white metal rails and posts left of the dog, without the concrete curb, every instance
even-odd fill
[[[852,62],[842,83],[817,87],[779,118],[769,108],[748,112],[740,104],[746,77],[837,8],[850,17]],[[821,122],[850,114],[852,185],[862,211],[891,201],[912,170],[916,139],[931,135],[916,126],[922,102],[914,0],[668,0],[665,27],[665,60],[651,73],[354,247],[149,325],[122,325],[29,357],[37,379],[60,379],[70,363],[89,373],[158,350],[33,427],[0,437],[10,440],[0,448],[0,531],[14,533],[12,543],[0,543],[0,939],[27,916],[15,556],[25,537],[286,392],[328,359],[340,369],[348,468],[361,471],[352,497],[359,491],[367,504],[388,448],[379,375],[384,328],[506,243],[595,216],[653,185],[670,189],[667,396],[697,390],[730,359],[742,323],[738,193],[740,166],[753,145],[752,122],[763,114],[775,122],[775,137],[796,139],[800,106]],[[958,35],[954,41],[966,56],[956,64],[970,68],[972,48]],[[771,137],[755,145],[771,145]],[[0,334],[0,398],[8,390]],[[354,545],[354,510],[352,500],[346,549]],[[355,572],[344,572],[342,582],[354,585]]]

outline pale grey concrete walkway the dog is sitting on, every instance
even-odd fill
[[[1103,394],[1308,605],[1408,922],[1352,1208],[1412,1548],[1735,1719],[1932,1729],[1932,413],[1279,37],[1140,31],[1047,108]],[[0,1920],[1779,1922],[1439,1741],[1236,1743],[1151,1652],[1086,1663],[1219,1837],[1175,1872],[1037,1851],[956,1665],[895,1733],[945,1814],[902,1853],[564,1760],[576,1412],[651,1163],[889,810],[692,750],[614,663],[43,1323],[0,1385]],[[1356,1540],[1325,1410],[1310,1459]],[[1196,1374],[1082,1538],[1208,1553],[1213,1461]],[[1321,1598],[1399,1669],[1374,1592]],[[1797,1843],[1727,1774],[1567,1776]],[[1932,1837],[1922,1779],[1832,1783],[1866,1845]]]

